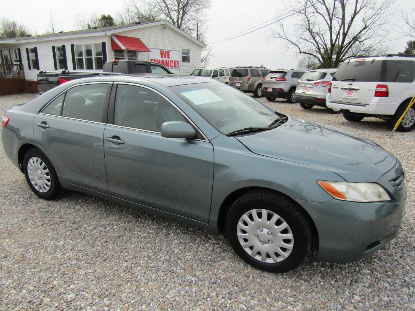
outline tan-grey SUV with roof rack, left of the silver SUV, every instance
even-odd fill
[[[232,70],[229,85],[245,93],[254,93],[254,97],[262,97],[262,80],[268,73],[265,67],[239,66]]]

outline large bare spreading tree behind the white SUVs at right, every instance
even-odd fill
[[[300,0],[287,2],[270,36],[311,56],[320,68],[335,68],[356,56],[387,50],[393,0]]]

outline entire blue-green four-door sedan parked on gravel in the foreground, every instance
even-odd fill
[[[405,212],[391,153],[210,78],[68,81],[8,109],[1,136],[38,197],[64,188],[226,232],[270,272],[300,265],[313,236],[318,260],[358,260],[396,235]]]

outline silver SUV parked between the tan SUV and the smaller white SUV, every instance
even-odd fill
[[[262,82],[266,99],[273,102],[276,98],[285,98],[288,102],[295,102],[295,88],[303,73],[305,70],[271,70]]]

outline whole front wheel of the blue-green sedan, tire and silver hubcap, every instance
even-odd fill
[[[252,191],[237,199],[226,216],[226,233],[242,260],[267,272],[295,269],[311,248],[308,216],[272,192]]]

